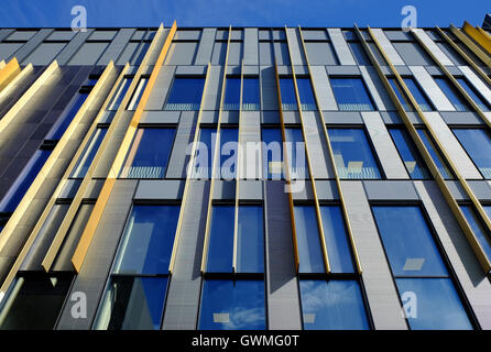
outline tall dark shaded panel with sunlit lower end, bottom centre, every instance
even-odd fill
[[[266,301],[270,330],[302,329],[292,226],[283,182],[264,183]]]

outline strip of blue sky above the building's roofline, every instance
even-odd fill
[[[404,6],[418,26],[481,25],[490,0],[1,0],[0,26],[70,26],[73,6],[90,26],[400,26]]]

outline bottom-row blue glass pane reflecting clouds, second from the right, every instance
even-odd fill
[[[305,330],[369,330],[361,289],[356,280],[301,279]]]

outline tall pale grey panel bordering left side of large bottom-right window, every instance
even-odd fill
[[[397,290],[361,182],[341,182],[362,280],[377,330],[406,330]]]

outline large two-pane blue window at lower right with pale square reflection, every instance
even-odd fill
[[[417,297],[417,316],[407,315],[411,329],[472,329],[419,207],[372,210],[401,300]]]

